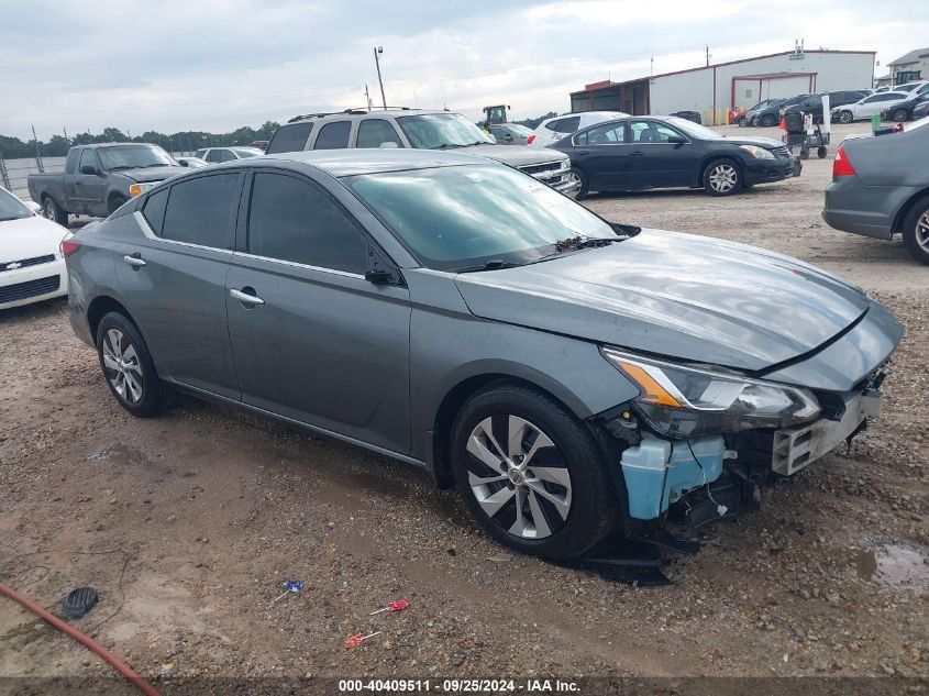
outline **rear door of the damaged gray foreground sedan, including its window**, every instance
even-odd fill
[[[125,243],[117,279],[158,373],[239,399],[225,317],[225,276],[244,175],[185,178],[133,213],[144,237]]]

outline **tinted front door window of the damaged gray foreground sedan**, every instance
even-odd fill
[[[281,174],[255,175],[248,253],[350,273],[367,270],[367,241],[347,213],[318,186]]]

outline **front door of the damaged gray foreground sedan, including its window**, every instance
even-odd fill
[[[321,185],[259,170],[226,279],[246,404],[408,453],[410,298],[365,279],[372,242]]]

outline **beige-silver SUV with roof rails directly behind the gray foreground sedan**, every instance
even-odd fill
[[[460,113],[425,109],[349,109],[295,117],[280,126],[267,154],[345,147],[457,150],[496,159],[574,198],[580,188],[564,153],[545,147],[505,147]]]

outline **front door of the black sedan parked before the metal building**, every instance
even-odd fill
[[[630,189],[696,185],[694,146],[689,140],[686,143],[670,142],[670,139],[679,136],[681,133],[660,121],[630,122],[627,170]]]

